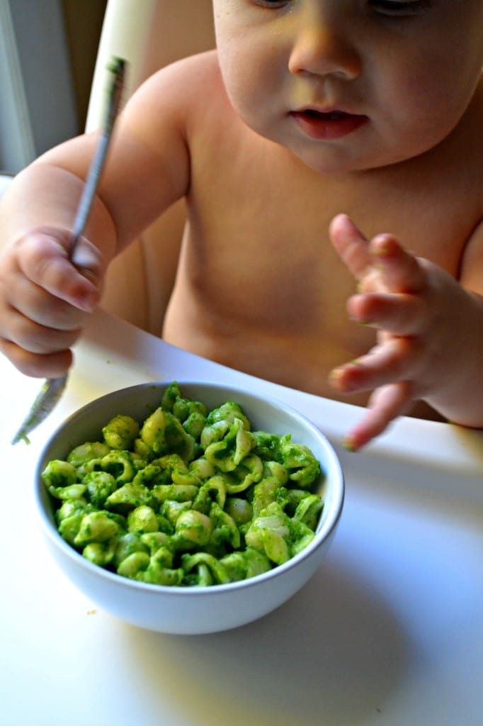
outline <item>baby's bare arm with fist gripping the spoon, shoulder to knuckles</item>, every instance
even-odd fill
[[[71,229],[97,134],[38,158],[2,198],[0,350],[25,375],[66,372],[70,346],[99,302],[112,258],[186,194],[186,99],[193,97],[186,86],[199,79],[184,65],[153,76],[121,113],[72,262]]]

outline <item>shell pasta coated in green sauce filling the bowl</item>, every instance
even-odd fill
[[[314,537],[318,460],[288,433],[252,431],[234,401],[208,411],[171,383],[146,420],[119,414],[102,436],[42,473],[59,534],[95,565],[207,587],[281,565]]]

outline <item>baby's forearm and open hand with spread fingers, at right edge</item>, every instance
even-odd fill
[[[331,240],[358,280],[350,317],[377,330],[376,346],[331,372],[339,392],[373,391],[347,447],[360,449],[416,399],[453,423],[483,428],[481,254],[465,261],[459,282],[391,234],[368,242],[345,215],[332,221]]]

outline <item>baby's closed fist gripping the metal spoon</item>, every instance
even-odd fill
[[[0,254],[0,350],[25,375],[63,375],[99,301],[99,252],[80,240],[73,264],[70,241],[67,230],[30,229]]]

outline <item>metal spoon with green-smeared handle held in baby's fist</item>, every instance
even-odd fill
[[[99,179],[101,178],[104,161],[107,155],[107,148],[109,147],[112,129],[114,127],[115,118],[119,111],[120,101],[123,94],[125,61],[122,58],[113,59],[112,63],[109,65],[109,70],[113,74],[109,89],[109,101],[105,111],[102,134],[99,142],[97,143],[94,158],[88,171],[86,185],[83,188],[78,210],[75,214],[73,239],[69,251],[70,260],[73,259],[75,248],[83,234],[89,213],[91,212],[92,202],[94,200],[97,185],[99,184]],[[67,385],[67,376],[68,374],[66,373],[61,378],[48,378],[45,381],[36,396],[35,401],[33,401],[27,417],[25,417],[25,420],[13,437],[12,444],[17,444],[17,442],[21,440],[28,442],[28,434],[30,431],[33,431],[33,429],[49,415],[51,410],[57,404],[57,401],[59,401],[60,396],[62,396],[65,386]]]

